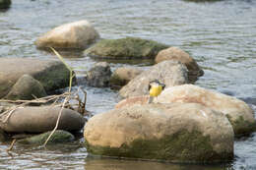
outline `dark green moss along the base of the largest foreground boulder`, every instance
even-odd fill
[[[90,153],[104,156],[161,160],[168,162],[224,162],[232,159],[233,153],[217,153],[210,137],[198,131],[180,131],[160,140],[136,140],[120,147],[91,145]]]

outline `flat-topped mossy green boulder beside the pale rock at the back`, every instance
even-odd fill
[[[102,39],[85,51],[86,54],[104,59],[155,59],[158,52],[168,46],[138,37]]]

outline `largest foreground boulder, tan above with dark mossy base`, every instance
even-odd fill
[[[133,105],[97,114],[84,131],[90,153],[169,162],[224,162],[233,130],[223,113],[196,103]]]

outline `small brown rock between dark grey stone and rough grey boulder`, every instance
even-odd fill
[[[132,67],[117,68],[110,78],[110,86],[112,88],[120,88],[127,85],[131,80],[140,75],[143,70]]]

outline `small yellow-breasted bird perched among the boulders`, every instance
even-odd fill
[[[155,80],[150,82],[149,84],[149,90],[150,90],[150,98],[148,103],[152,103],[154,97],[157,97],[160,95],[160,92],[164,89],[165,85],[161,84],[160,81]]]

